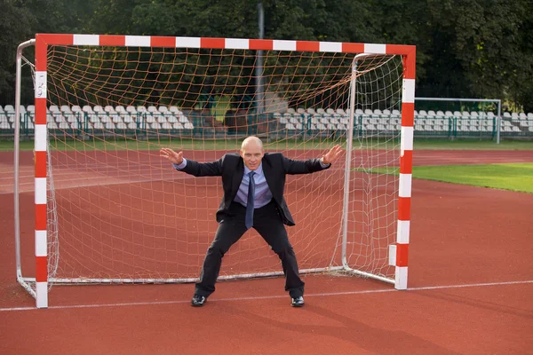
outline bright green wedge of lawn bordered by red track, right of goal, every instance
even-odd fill
[[[370,172],[398,175],[398,170]],[[413,177],[453,184],[533,193],[533,163],[413,167]]]

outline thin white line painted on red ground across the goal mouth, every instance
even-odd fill
[[[523,281],[503,281],[503,282],[486,282],[486,283],[471,283],[465,285],[447,285],[447,286],[426,286],[421,288],[408,288],[406,291],[427,291],[434,289],[449,289],[449,288],[484,288],[490,286],[506,286],[506,285],[524,285],[532,284],[533,280],[523,280]],[[347,291],[347,292],[327,292],[320,294],[306,294],[306,297],[314,296],[346,296],[346,295],[363,295],[363,294],[380,294],[388,292],[404,292],[398,291],[394,288],[386,289],[367,289],[362,291]],[[275,299],[275,298],[286,298],[286,295],[283,296],[251,296],[251,297],[237,297],[237,298],[218,298],[214,299],[211,302],[227,302],[227,301],[251,301],[251,300],[261,300],[261,299]],[[181,300],[181,301],[159,301],[159,302],[128,302],[123,304],[72,304],[72,305],[52,305],[48,307],[53,310],[68,310],[68,309],[77,309],[77,308],[104,308],[104,307],[123,307],[131,305],[164,305],[164,304],[189,304],[190,300]],[[0,308],[0,312],[15,312],[15,311],[37,311],[36,307],[12,307],[12,308]]]

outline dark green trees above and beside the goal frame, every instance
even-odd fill
[[[418,96],[503,99],[533,111],[530,0],[262,3],[266,38],[415,44]],[[0,104],[12,104],[16,46],[39,32],[259,36],[257,2],[250,0],[0,0],[0,6]]]

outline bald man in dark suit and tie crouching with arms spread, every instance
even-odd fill
[[[334,146],[320,159],[294,161],[280,153],[265,153],[257,137],[244,139],[240,154],[225,154],[215,162],[195,162],[185,159],[183,152],[161,149],[160,155],[172,162],[176,170],[195,177],[222,177],[224,196],[217,211],[219,228],[203,261],[191,301],[193,306],[203,306],[214,292],[222,256],[251,227],[280,257],[291,305],[304,305],[304,281],[299,277],[296,256],[283,226],[295,225],[283,198],[285,176],[326,170],[340,154],[341,147]]]

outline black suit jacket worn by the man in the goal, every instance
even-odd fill
[[[283,198],[285,190],[285,175],[287,174],[310,174],[324,170],[319,159],[307,161],[294,161],[286,158],[281,153],[266,153],[262,160],[263,172],[267,179],[268,187],[272,193],[275,205],[285,225],[294,225],[290,216],[287,202]],[[325,169],[330,168],[328,166]],[[225,154],[215,162],[195,162],[187,159],[187,166],[182,171],[195,177],[222,177],[224,196],[217,211],[217,221],[220,222],[228,213],[231,202],[243,181],[244,162],[239,154]]]

